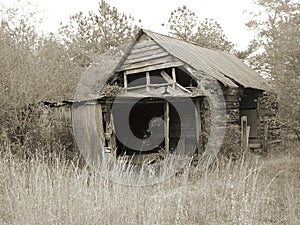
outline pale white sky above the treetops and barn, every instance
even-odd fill
[[[0,0],[4,6],[12,6],[21,1],[29,2],[31,11],[39,11],[43,18],[40,29],[44,32],[55,32],[60,22],[66,23],[70,15],[79,11],[96,11],[100,0]],[[257,12],[253,0],[106,0],[120,12],[131,14],[137,25],[155,32],[167,34],[166,23],[172,10],[186,5],[194,11],[199,20],[211,18],[221,24],[228,40],[238,49],[246,49],[254,38],[245,23],[250,20],[250,12]]]

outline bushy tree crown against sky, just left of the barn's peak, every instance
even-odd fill
[[[112,46],[118,46],[134,38],[137,26],[131,16],[119,13],[105,1],[98,11],[87,15],[79,12],[62,26],[60,35],[68,46],[70,56],[82,66],[89,65],[95,57]]]

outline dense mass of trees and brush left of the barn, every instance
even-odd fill
[[[41,111],[35,111],[38,103],[72,99],[85,66],[136,31],[131,17],[101,1],[96,13],[79,12],[58,35],[43,35],[36,30],[40,20],[34,20],[35,12],[26,7],[19,2],[0,9],[0,136],[22,146],[26,140],[36,142],[38,132],[43,136],[38,118],[33,118]],[[41,129],[57,132],[48,127],[51,123]],[[65,129],[62,133],[68,134],[67,125]],[[62,143],[60,137],[55,140]]]

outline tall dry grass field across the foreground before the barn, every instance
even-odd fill
[[[300,145],[146,187],[1,147],[0,224],[300,224]]]

